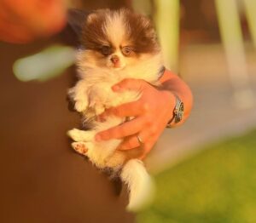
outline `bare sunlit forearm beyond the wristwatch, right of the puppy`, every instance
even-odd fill
[[[163,77],[160,78],[160,83],[162,83],[162,90],[167,90],[171,94],[176,94],[184,104],[183,120],[180,123],[173,123],[172,126],[178,126],[182,124],[190,114],[193,106],[193,95],[189,86],[183,82],[180,77],[177,77],[171,71],[165,71]]]

